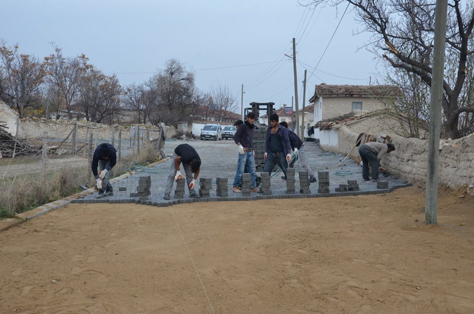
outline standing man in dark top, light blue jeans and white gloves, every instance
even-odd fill
[[[255,158],[253,152],[253,129],[255,128],[255,114],[249,112],[245,122],[238,127],[234,134],[234,141],[238,146],[237,171],[234,177],[232,191],[240,193],[239,185],[242,184],[242,175],[245,169],[250,173],[250,191],[257,192]]]

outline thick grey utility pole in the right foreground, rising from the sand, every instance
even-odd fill
[[[435,47],[433,49],[433,76],[430,100],[430,135],[426,166],[425,224],[437,224],[439,130],[441,128],[441,101],[443,99],[447,6],[447,0],[436,0]]]

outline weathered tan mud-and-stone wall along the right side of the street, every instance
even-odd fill
[[[321,148],[341,154],[348,154],[354,147],[358,133],[347,127],[338,130],[338,146],[321,145]],[[371,134],[382,135],[382,134]],[[395,151],[386,154],[381,165],[390,173],[399,175],[412,182],[426,182],[428,140],[405,138],[388,134],[395,144]],[[474,183],[474,134],[463,138],[446,141],[440,140],[439,145],[439,177],[440,185],[459,188]],[[350,157],[359,156],[358,147]]]

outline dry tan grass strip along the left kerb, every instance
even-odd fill
[[[113,168],[112,177],[129,171],[133,165],[148,165],[159,160],[159,152],[146,144],[140,154],[124,156]],[[0,180],[0,218],[12,217],[40,205],[78,192],[79,184],[94,186],[89,166],[64,167],[43,175],[17,176]]]

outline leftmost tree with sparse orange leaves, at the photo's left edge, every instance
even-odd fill
[[[23,117],[28,107],[40,103],[45,64],[35,56],[20,54],[18,45],[0,44],[0,98]]]

